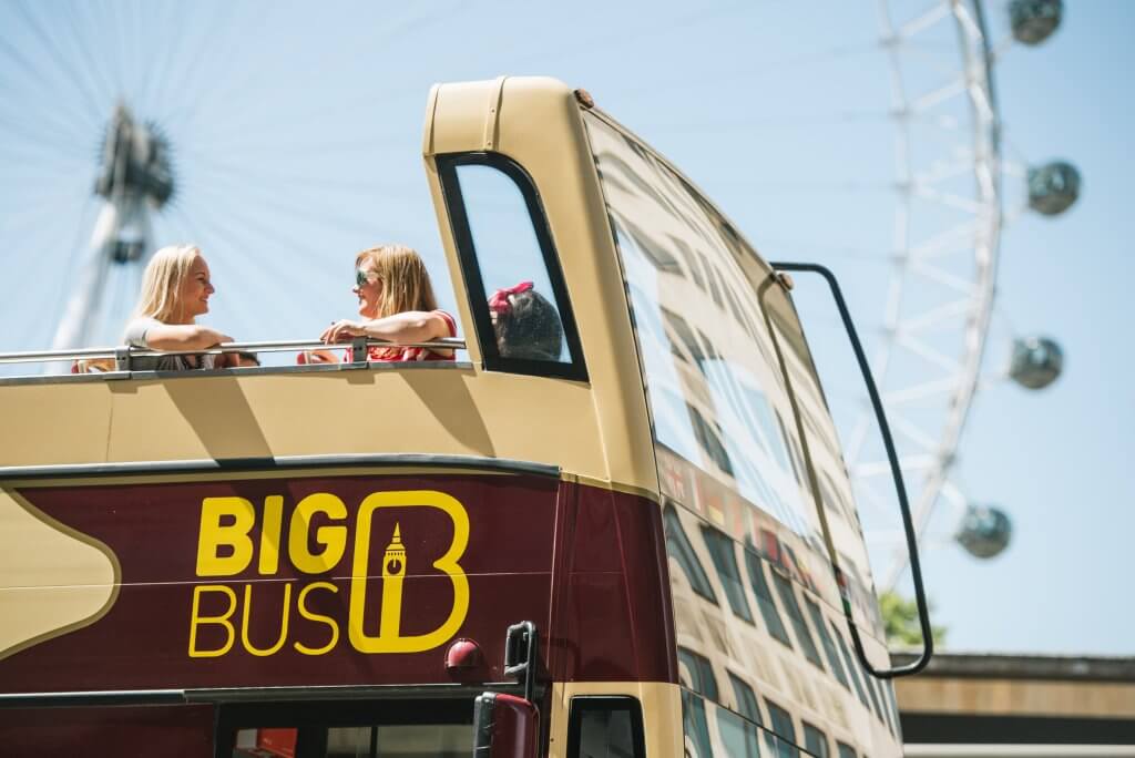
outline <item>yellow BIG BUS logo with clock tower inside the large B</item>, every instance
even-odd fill
[[[453,522],[453,541],[445,554],[432,563],[434,568],[447,576],[453,584],[449,615],[430,632],[402,634],[403,582],[413,557],[406,554],[402,542],[401,523],[395,523],[390,541],[382,554],[382,599],[378,634],[369,634],[367,629],[373,629],[373,624],[367,623],[365,617],[367,580],[371,575],[369,564],[375,513],[382,508],[422,507],[437,508]],[[300,500],[292,512],[286,546],[283,544],[283,496],[270,495],[264,498],[258,550],[252,538],[257,522],[257,511],[252,503],[242,497],[204,498],[201,502],[201,529],[197,536],[197,576],[235,576],[246,571],[253,558],[257,558],[257,571],[261,576],[274,576],[279,571],[281,554],[287,555],[299,573],[326,574],[340,564],[351,536],[345,523],[347,508],[342,499],[329,492],[316,492]],[[330,523],[312,529],[312,519],[317,515]],[[421,652],[449,640],[469,612],[469,580],[457,563],[469,544],[469,515],[461,503],[434,490],[373,492],[359,506],[353,531],[354,549],[347,590],[347,639],[351,646],[367,654]],[[312,544],[317,546],[314,549]],[[328,581],[301,583],[293,606],[293,582],[284,582],[279,633],[271,645],[266,646],[263,641],[258,643],[250,635],[254,583],[264,584],[247,582],[241,595],[228,584],[207,583],[194,587],[190,614],[191,658],[224,656],[236,646],[237,639],[254,656],[274,655],[288,641],[293,607],[296,616],[323,628],[322,634],[326,637],[326,643],[318,647],[295,640],[292,642],[295,650],[318,656],[336,647],[340,637],[339,623],[328,615],[317,613],[313,596],[317,592],[338,593],[339,587]]]

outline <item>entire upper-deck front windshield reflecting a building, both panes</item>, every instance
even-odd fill
[[[839,440],[791,301],[684,177],[596,111],[585,124],[627,280],[663,494],[728,524],[838,606],[819,504],[855,606],[875,628]]]

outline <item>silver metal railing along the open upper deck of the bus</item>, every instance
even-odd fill
[[[432,349],[465,349],[464,339],[435,339],[422,343],[392,343],[382,339],[368,339],[356,337],[351,342],[326,344],[313,339],[286,339],[275,342],[237,342],[221,343],[213,347],[193,351],[157,351],[129,345],[117,345],[114,347],[84,347],[68,348],[61,351],[26,351],[16,353],[0,353],[0,365],[17,363],[56,363],[56,362],[78,362],[114,360],[115,372],[129,372],[133,360],[136,357],[167,357],[178,355],[221,355],[226,353],[239,353],[258,355],[260,353],[303,353],[316,349],[345,349],[351,348],[352,361],[333,363],[339,368],[362,368],[368,365],[368,348],[370,347],[428,347]],[[318,363],[314,365],[319,365]]]

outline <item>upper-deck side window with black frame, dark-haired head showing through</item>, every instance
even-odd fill
[[[530,177],[503,155],[438,160],[489,371],[587,380],[560,259]]]

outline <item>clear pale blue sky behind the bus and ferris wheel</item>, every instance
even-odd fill
[[[901,22],[931,3],[892,5]],[[986,563],[943,545],[948,525],[927,540],[934,621],[955,649],[1135,652],[1119,561],[1135,532],[1135,7],[1066,6],[1051,40],[1009,49],[995,71],[1007,155],[1069,159],[1084,193],[1065,216],[1024,214],[1003,235],[987,379],[957,473],[1016,532]],[[875,3],[802,7],[2,0],[0,255],[19,284],[0,302],[0,349],[50,343],[98,210],[95,154],[118,96],[175,145],[179,195],[155,233],[202,245],[218,285],[211,323],[242,339],[318,334],[354,311],[354,251],[384,239],[421,250],[452,306],[421,169],[426,93],[499,74],[588,89],[767,258],[836,268],[869,340],[898,204]],[[987,12],[1003,36],[1004,3]],[[949,69],[957,56],[956,40],[932,37],[922,61]],[[948,159],[952,148],[919,150]],[[1018,179],[1006,194],[1019,204]],[[125,312],[134,284],[114,287]],[[1009,338],[1032,332],[1058,339],[1067,363],[1031,394],[995,374]]]

